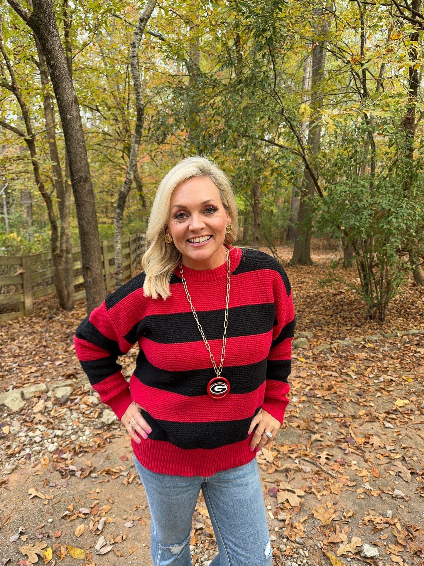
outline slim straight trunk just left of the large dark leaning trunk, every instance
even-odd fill
[[[69,311],[75,305],[75,286],[73,285],[73,255],[72,234],[70,225],[71,186],[63,182],[62,168],[60,167],[59,152],[56,143],[56,130],[53,104],[48,91],[49,70],[47,69],[40,42],[36,41],[38,61],[40,63],[41,86],[44,89],[43,107],[46,122],[47,143],[51,161],[54,188],[56,190],[59,216],[60,216],[60,243],[59,252],[54,258],[54,284],[59,299],[60,308]]]

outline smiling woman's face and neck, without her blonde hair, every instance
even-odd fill
[[[175,188],[166,233],[171,234],[184,265],[192,269],[222,265],[227,224],[231,218],[209,177],[193,177]]]

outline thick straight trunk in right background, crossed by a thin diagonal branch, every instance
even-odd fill
[[[308,128],[308,147],[310,163],[314,162],[321,142],[321,109],[322,95],[320,87],[325,70],[326,46],[328,37],[328,16],[323,15],[322,6],[313,9],[314,14],[314,37],[323,37],[316,40],[312,48],[311,68],[311,104]],[[293,265],[312,265],[310,257],[310,233],[312,229],[312,207],[311,199],[314,196],[315,184],[310,171],[305,168],[302,189],[300,193],[298,222],[296,229],[295,247],[291,263]]]

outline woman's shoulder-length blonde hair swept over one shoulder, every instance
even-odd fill
[[[227,175],[206,157],[187,157],[177,163],[163,178],[158,187],[150,212],[146,231],[147,250],[142,258],[145,272],[144,295],[166,299],[171,295],[170,278],[179,264],[181,254],[174,243],[165,242],[165,229],[170,214],[172,192],[178,185],[193,177],[209,177],[219,190],[224,208],[231,216],[231,230],[226,234],[224,244],[231,245],[239,230],[239,215],[231,183]]]

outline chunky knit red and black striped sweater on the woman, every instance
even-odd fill
[[[165,474],[212,475],[247,464],[248,430],[262,407],[283,421],[295,315],[288,277],[271,256],[230,249],[231,290],[222,375],[230,393],[211,398],[215,376],[178,268],[171,297],[144,297],[140,273],[106,297],[77,328],[76,354],[103,403],[121,418],[132,400],[152,428],[132,442],[145,468]],[[189,293],[215,359],[220,359],[227,265],[183,267]],[[116,363],[139,343],[129,385]]]

